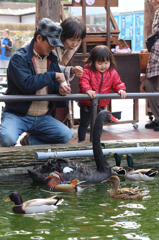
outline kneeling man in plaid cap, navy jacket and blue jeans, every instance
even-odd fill
[[[69,85],[52,54],[54,47],[63,46],[62,28],[48,18],[39,21],[34,39],[26,47],[17,50],[11,57],[8,71],[6,95],[67,95]],[[0,126],[0,144],[3,147],[16,145],[23,132],[28,134],[22,145],[66,143],[71,130],[53,118],[50,113],[53,103],[46,101],[10,101],[3,109]]]

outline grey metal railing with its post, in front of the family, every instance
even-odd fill
[[[159,98],[159,93],[127,93],[125,99],[146,99],[146,98]],[[93,99],[91,99],[88,96],[88,94],[68,94],[66,96],[60,96],[58,94],[0,96],[0,102],[90,100],[91,101],[90,141],[93,140],[93,125],[97,116],[97,106],[99,99],[121,99],[121,97],[117,93],[96,94],[96,97]]]

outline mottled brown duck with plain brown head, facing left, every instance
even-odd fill
[[[119,189],[120,179],[118,176],[112,175],[105,181],[101,183],[111,183],[112,188],[109,190],[109,196],[113,198],[120,198],[120,199],[141,199],[143,198],[143,193],[140,192],[138,189],[133,188],[121,188]]]

